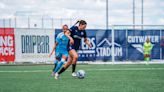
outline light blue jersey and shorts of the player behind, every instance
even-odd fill
[[[68,56],[68,42],[69,39],[64,35],[63,32],[59,33],[56,37],[56,42],[58,43],[56,47],[56,56],[61,57],[62,55]]]

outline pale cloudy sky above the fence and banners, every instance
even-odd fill
[[[108,0],[109,25],[133,24],[132,3]],[[0,0],[1,20],[27,16],[71,20],[62,21],[64,24],[84,19],[89,28],[105,28],[106,0]],[[141,0],[135,0],[135,24],[141,24]],[[164,0],[144,0],[144,24],[164,25]]]

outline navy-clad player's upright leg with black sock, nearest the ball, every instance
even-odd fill
[[[78,53],[72,49],[69,51],[70,56],[72,57],[72,76],[76,76],[75,69],[76,69],[76,62],[78,60]]]

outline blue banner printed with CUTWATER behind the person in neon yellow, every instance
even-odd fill
[[[160,59],[159,30],[128,30],[128,60],[143,60],[143,44],[149,38],[153,44],[152,59]]]

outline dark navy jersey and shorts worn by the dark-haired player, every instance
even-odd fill
[[[71,37],[74,40],[73,49],[78,50],[81,44],[81,39],[86,38],[87,34],[85,30],[79,30],[77,26],[72,26],[70,28]]]

